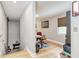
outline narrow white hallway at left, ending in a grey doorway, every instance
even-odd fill
[[[32,1],[0,1],[0,55],[35,53],[34,7]]]

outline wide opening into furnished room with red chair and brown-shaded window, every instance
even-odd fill
[[[41,57],[56,58],[64,54],[67,58],[71,57],[71,11],[68,9],[71,7],[70,3],[36,2],[36,52],[38,56],[42,54]],[[61,10],[59,7],[62,7]]]

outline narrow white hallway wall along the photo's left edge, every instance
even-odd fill
[[[5,54],[7,40],[7,20],[0,4],[0,55]]]

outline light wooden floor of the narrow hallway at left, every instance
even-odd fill
[[[31,55],[27,51],[22,50],[15,53],[3,55],[2,58],[31,58]]]

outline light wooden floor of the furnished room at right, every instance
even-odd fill
[[[63,51],[63,46],[46,41],[48,46],[47,48],[43,48],[37,54],[39,58],[59,58],[60,53]]]

